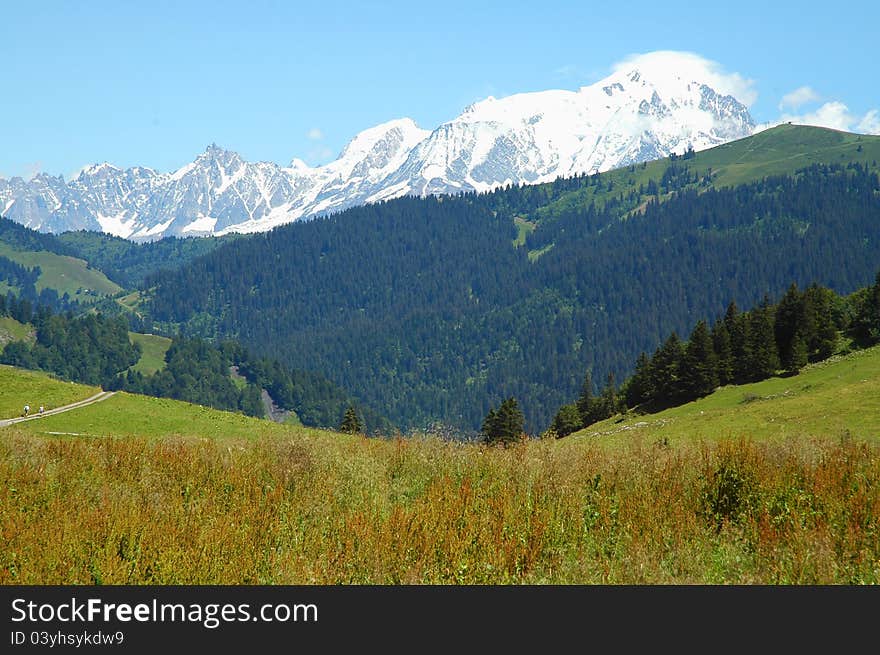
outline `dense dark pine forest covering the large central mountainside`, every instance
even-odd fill
[[[152,275],[147,307],[154,328],[238,338],[325,373],[402,428],[477,430],[515,397],[537,432],[584,370],[625,379],[640,352],[732,300],[872,281],[871,169],[815,165],[725,188],[709,177],[684,157],[620,194],[594,175],[351,209]],[[564,202],[591,188],[601,202]],[[519,247],[517,223],[532,227]]]

